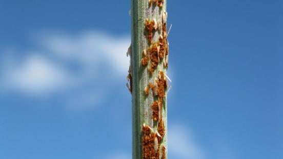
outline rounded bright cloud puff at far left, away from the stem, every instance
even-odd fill
[[[3,87],[22,93],[46,93],[58,86],[65,86],[68,73],[48,59],[31,54],[19,66],[7,68]]]

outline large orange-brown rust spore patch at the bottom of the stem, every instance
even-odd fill
[[[144,126],[142,129],[143,132],[143,159],[158,159],[159,158],[159,144],[155,145],[155,138],[157,137],[156,133],[151,133],[148,126]],[[154,147],[157,146],[157,150]]]

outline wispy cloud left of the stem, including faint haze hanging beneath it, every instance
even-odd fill
[[[29,49],[1,51],[2,93],[48,96],[64,92],[63,98],[68,98],[64,103],[70,107],[93,106],[111,85],[126,78],[129,36],[44,32],[33,40]]]

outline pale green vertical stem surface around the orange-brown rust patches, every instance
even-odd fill
[[[154,1],[154,0],[152,0]],[[146,19],[162,22],[163,13],[166,11],[166,0],[163,7],[149,4],[149,0],[131,0],[131,26],[132,26],[132,53],[131,53],[131,73],[132,73],[132,156],[133,158],[143,158],[143,124],[148,125],[157,132],[156,122],[152,120],[151,105],[156,101],[156,96],[150,91],[145,94],[145,87],[149,83],[156,83],[159,71],[166,74],[167,69],[163,62],[165,58],[161,58],[158,66],[151,74],[148,66],[141,66],[141,58],[143,58],[143,50],[151,47],[148,42],[147,31],[145,29]],[[162,23],[161,23],[162,24]],[[162,32],[155,31],[153,33],[152,42],[158,42],[158,36]],[[161,117],[164,121],[165,135],[163,137],[162,146],[167,148],[167,95],[164,97]],[[161,147],[160,147],[161,152]],[[167,158],[167,150],[165,152]],[[161,158],[161,155],[160,155]]]

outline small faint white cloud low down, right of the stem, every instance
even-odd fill
[[[206,154],[195,140],[193,133],[181,125],[169,125],[168,153],[173,158],[205,159]]]

